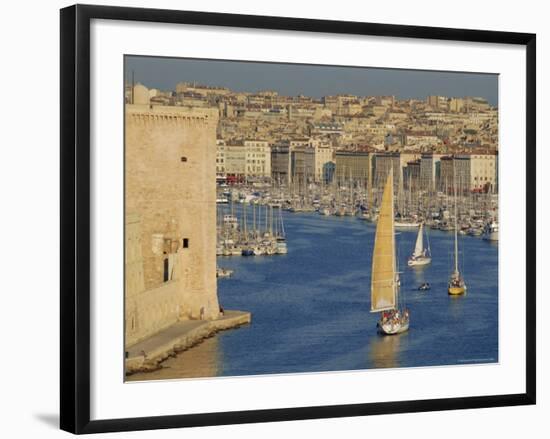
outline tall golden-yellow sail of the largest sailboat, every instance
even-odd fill
[[[393,169],[390,170],[376,226],[372,255],[371,312],[396,306],[395,233],[393,206]]]

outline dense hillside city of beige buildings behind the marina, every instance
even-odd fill
[[[405,187],[438,190],[452,183],[452,155],[464,191],[496,192],[498,109],[479,97],[280,96],[195,83],[174,91],[138,84],[128,101],[217,108],[220,182],[384,181],[398,166]],[[399,180],[399,179],[398,179]]]

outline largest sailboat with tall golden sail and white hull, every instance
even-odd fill
[[[376,225],[371,276],[371,312],[381,312],[378,330],[387,335],[409,329],[409,311],[399,307],[394,221],[393,171],[390,171]]]

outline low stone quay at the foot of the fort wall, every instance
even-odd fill
[[[178,352],[197,345],[219,331],[249,324],[252,316],[246,311],[224,311],[215,320],[185,320],[138,342],[127,349],[126,375],[156,370]]]

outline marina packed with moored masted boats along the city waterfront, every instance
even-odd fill
[[[291,183],[220,186],[217,194],[217,254],[277,255],[291,250],[284,231],[282,211],[309,212],[326,217],[355,217],[376,223],[382,188],[363,180],[323,183]],[[421,191],[395,188],[395,228],[425,228],[454,232],[454,189]],[[457,185],[459,186],[459,185]],[[460,192],[456,194],[456,227],[459,235],[498,241],[498,194]]]

